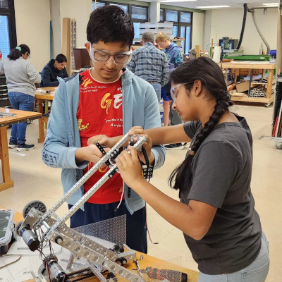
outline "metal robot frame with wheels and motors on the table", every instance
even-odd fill
[[[40,257],[44,263],[39,267],[37,281],[47,281],[44,277],[46,275],[47,277],[49,276],[49,281],[51,281],[51,278],[53,279],[52,281],[58,282],[71,281],[68,274],[70,271],[68,270],[71,269],[73,260],[85,258],[87,260],[88,270],[90,269],[92,273],[99,278],[99,281],[118,281],[118,278],[116,277],[118,276],[125,279],[125,281],[144,282],[142,276],[123,267],[129,260],[136,258],[136,252],[134,250],[131,250],[126,245],[125,247],[128,249],[126,252],[124,252],[123,245],[115,245],[114,249],[108,249],[97,243],[95,240],[88,238],[86,235],[83,235],[66,225],[66,221],[70,219],[80,207],[82,207],[82,204],[84,204],[94,192],[106,182],[106,180],[111,178],[114,173],[118,171],[114,159],[116,159],[120,152],[120,148],[125,145],[125,142],[127,142],[130,137],[130,145],[133,145],[137,150],[141,150],[142,145],[146,142],[146,138],[144,136],[137,136],[137,141],[135,142],[135,136],[130,136],[128,133],[124,135],[107,153],[103,152],[104,149],[97,143],[97,145],[100,146],[99,149],[104,153],[104,157],[97,161],[90,171],[85,173],[85,175],[82,176],[82,178],[80,178],[80,180],[78,180],[78,182],[75,183],[65,195],[63,195],[61,200],[54,204],[54,207],[47,211],[44,204],[39,201],[33,201],[25,207],[23,212],[25,219],[16,226],[16,233],[23,238],[28,247],[30,247],[30,250],[39,250]],[[71,197],[71,195],[73,195],[73,193],[104,164],[109,166],[109,171],[107,171],[62,218],[59,218],[55,213],[56,210],[59,209],[59,207],[61,207],[61,205],[64,204],[66,200],[68,200],[68,198]],[[145,178],[148,180],[150,176],[152,176],[152,167],[147,163],[147,165],[142,166],[142,169]],[[45,256],[42,253],[43,245],[47,245],[48,243],[51,252],[51,242],[59,244],[71,251],[71,257],[66,271],[61,268],[54,255],[50,253],[50,255]],[[110,275],[108,275],[107,278],[102,275],[104,271],[109,271]]]

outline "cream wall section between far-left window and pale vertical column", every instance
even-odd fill
[[[49,0],[15,0],[18,45],[30,47],[30,62],[37,71],[50,59]]]

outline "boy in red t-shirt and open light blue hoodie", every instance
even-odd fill
[[[64,192],[92,168],[103,155],[95,142],[101,135],[116,137],[133,126],[161,126],[154,88],[131,73],[133,20],[118,6],[103,6],[90,15],[85,47],[93,68],[61,80],[49,118],[43,161],[63,168]],[[111,147],[111,146],[109,146]],[[154,168],[164,164],[164,147],[145,147]],[[105,149],[106,150],[106,149]],[[141,156],[140,159],[144,159]],[[68,199],[69,208],[104,176],[99,168],[80,190]],[[83,226],[126,214],[129,247],[147,252],[145,202],[116,173],[71,217],[71,227]]]

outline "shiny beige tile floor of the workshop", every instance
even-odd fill
[[[281,281],[282,257],[282,150],[269,140],[273,108],[264,106],[235,105],[233,111],[245,116],[254,140],[252,192],[256,209],[270,244],[271,266],[267,282]],[[10,130],[8,130],[10,135]],[[0,192],[0,206],[21,212],[31,200],[42,200],[50,208],[62,195],[60,169],[49,168],[41,160],[42,144],[37,143],[37,121],[27,126],[27,144],[35,144],[30,152],[10,149],[11,178],[15,186]],[[167,178],[172,169],[184,159],[186,149],[166,152],[166,163],[154,171],[152,183],[177,199],[178,192],[168,187]],[[66,207],[59,210],[59,215]],[[197,265],[185,245],[183,235],[148,207],[148,226],[154,245],[148,243],[149,255],[182,264],[197,270]]]

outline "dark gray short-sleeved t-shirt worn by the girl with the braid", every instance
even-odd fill
[[[252,135],[245,118],[221,123],[200,145],[192,160],[192,179],[180,200],[217,207],[211,228],[202,240],[184,234],[192,256],[204,274],[228,274],[251,264],[261,246],[262,226],[255,211],[252,177]],[[193,138],[200,122],[184,124]]]

